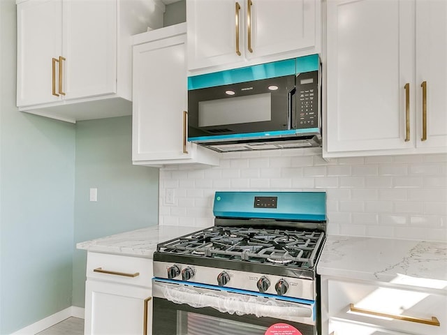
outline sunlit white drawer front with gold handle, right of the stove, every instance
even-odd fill
[[[337,320],[409,334],[447,334],[446,295],[333,280],[328,288],[329,314]]]

